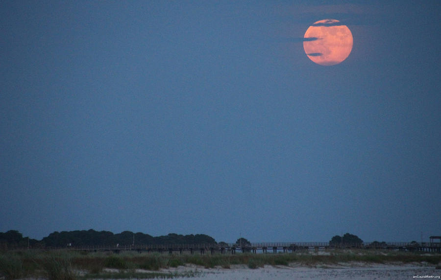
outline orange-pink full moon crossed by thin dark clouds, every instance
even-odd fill
[[[352,50],[352,33],[337,20],[321,20],[306,30],[303,48],[306,55],[319,65],[331,66],[345,60]]]

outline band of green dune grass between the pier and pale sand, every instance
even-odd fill
[[[0,252],[0,278],[20,279],[27,277],[73,280],[73,279],[129,279],[129,278],[176,278],[188,275],[164,273],[161,269],[182,265],[204,268],[231,268],[245,265],[250,269],[272,266],[302,265],[326,267],[350,262],[363,263],[424,263],[439,266],[441,254],[423,252],[335,250],[327,254],[279,253],[236,255],[189,255],[122,252],[75,252],[75,251],[7,251]],[[114,269],[113,272],[109,272]],[[188,274],[188,273],[186,273]]]

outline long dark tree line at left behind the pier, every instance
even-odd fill
[[[195,244],[211,243],[216,244],[216,240],[206,234],[176,234],[151,236],[145,233],[133,233],[124,231],[122,233],[112,233],[108,231],[70,231],[53,232],[42,240],[23,237],[23,234],[11,230],[0,233],[0,249],[14,247],[66,247],[66,246],[97,246],[97,245],[130,245],[130,244]]]

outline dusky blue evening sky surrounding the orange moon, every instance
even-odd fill
[[[440,235],[441,2],[322,2],[1,1],[0,232]]]

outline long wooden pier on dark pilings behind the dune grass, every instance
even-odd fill
[[[73,244],[72,244],[73,245]],[[327,251],[336,249],[385,249],[385,250],[400,250],[400,251],[424,251],[441,253],[441,243],[416,243],[416,242],[364,242],[364,243],[343,243],[330,244],[329,242],[282,242],[282,243],[251,243],[242,246],[235,243],[196,243],[196,244],[130,244],[130,245],[97,245],[97,246],[67,246],[63,248],[50,248],[46,250],[68,249],[74,251],[113,251],[119,253],[120,251],[137,251],[142,252],[195,252],[201,255],[210,253],[221,254],[236,254],[239,253],[295,253],[302,251]]]

